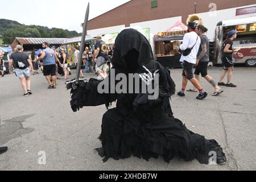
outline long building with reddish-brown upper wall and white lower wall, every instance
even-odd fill
[[[208,28],[208,38],[213,42],[218,22],[227,19],[256,16],[255,0],[131,0],[88,22],[88,34],[113,34],[125,27],[148,28],[150,43],[158,32],[167,30],[177,21],[186,23],[189,15],[197,14]],[[242,9],[240,13],[237,13]],[[216,10],[216,11],[213,11]],[[242,13],[241,13],[242,12]]]

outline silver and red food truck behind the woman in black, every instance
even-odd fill
[[[250,18],[223,20],[217,24],[214,46],[214,64],[221,64],[221,48],[230,30],[237,31],[234,48],[244,57],[234,55],[234,63],[245,63],[247,67],[256,65],[256,16]]]

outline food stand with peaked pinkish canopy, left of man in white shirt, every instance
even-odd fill
[[[154,36],[154,52],[155,59],[163,67],[181,68],[181,53],[176,42],[182,42],[184,35],[187,33],[188,27],[182,22],[176,22],[164,32],[159,32]]]

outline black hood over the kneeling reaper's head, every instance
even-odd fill
[[[135,50],[139,53],[138,65],[141,67],[154,60],[152,49],[147,38],[132,28],[123,30],[115,39],[115,49],[112,63],[115,67],[127,69],[125,56]]]

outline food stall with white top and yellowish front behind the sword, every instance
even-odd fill
[[[75,63],[74,63],[74,47],[75,46],[81,46],[81,40],[82,37],[76,37],[76,38],[70,38],[64,41],[64,47],[66,49],[67,52],[67,63],[69,64],[70,68],[75,68]],[[85,47],[88,47],[90,49],[92,49],[92,51],[94,50],[94,45],[95,45],[95,41],[96,39],[92,38],[91,36],[86,36],[85,37],[85,45],[84,45],[84,49]]]

